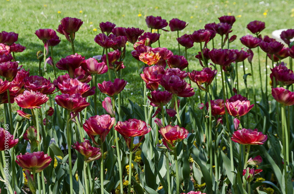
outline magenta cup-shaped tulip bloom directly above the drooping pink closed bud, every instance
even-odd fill
[[[112,97],[114,95],[119,94],[126,86],[127,81],[123,79],[114,79],[114,81],[103,81],[102,84],[98,83],[98,89],[102,92],[107,94],[108,96]]]

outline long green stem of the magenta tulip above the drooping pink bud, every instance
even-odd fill
[[[120,93],[118,94],[118,115],[119,115],[119,120],[121,121],[122,118],[121,118],[121,114],[120,114],[120,108],[121,108],[121,105],[120,105]],[[113,111],[115,112],[115,99],[114,99],[114,96],[112,96],[112,108],[113,108]],[[114,126],[116,125],[116,120],[114,121]],[[114,128],[113,128],[114,129]],[[119,182],[120,182],[120,186],[121,186],[121,189],[120,189],[120,192],[121,194],[123,194],[123,174],[122,174],[122,167],[121,167],[121,154],[120,154],[120,150],[119,150],[119,146],[118,146],[118,134],[117,134],[117,131],[114,130],[114,137],[115,137],[115,143],[116,143],[116,152],[117,152],[117,162],[118,162],[118,171],[119,171]]]

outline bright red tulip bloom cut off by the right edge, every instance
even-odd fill
[[[280,87],[273,88],[272,95],[278,103],[281,103],[285,106],[294,105],[294,92]]]

